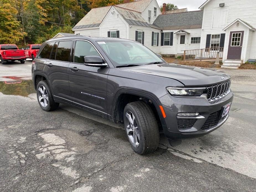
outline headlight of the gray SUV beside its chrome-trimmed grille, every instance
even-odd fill
[[[172,96],[196,97],[196,96],[201,96],[204,93],[204,90],[206,90],[206,87],[195,87],[195,88],[166,87],[166,89]]]

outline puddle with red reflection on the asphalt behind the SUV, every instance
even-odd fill
[[[22,80],[20,77],[4,77],[5,81],[0,82],[0,92],[4,95],[20,95],[28,97],[35,93],[32,80]]]

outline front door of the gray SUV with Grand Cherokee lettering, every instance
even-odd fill
[[[109,68],[84,65],[84,56],[100,56],[88,41],[76,41],[69,74],[73,105],[107,116],[107,76]]]

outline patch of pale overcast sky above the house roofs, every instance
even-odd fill
[[[179,9],[188,8],[188,11],[196,11],[199,10],[200,7],[206,0],[157,0],[159,7],[163,3],[173,3],[177,5]]]

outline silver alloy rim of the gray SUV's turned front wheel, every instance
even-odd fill
[[[126,111],[125,128],[131,144],[136,148],[139,147],[139,126],[137,124],[135,116],[131,111]]]

